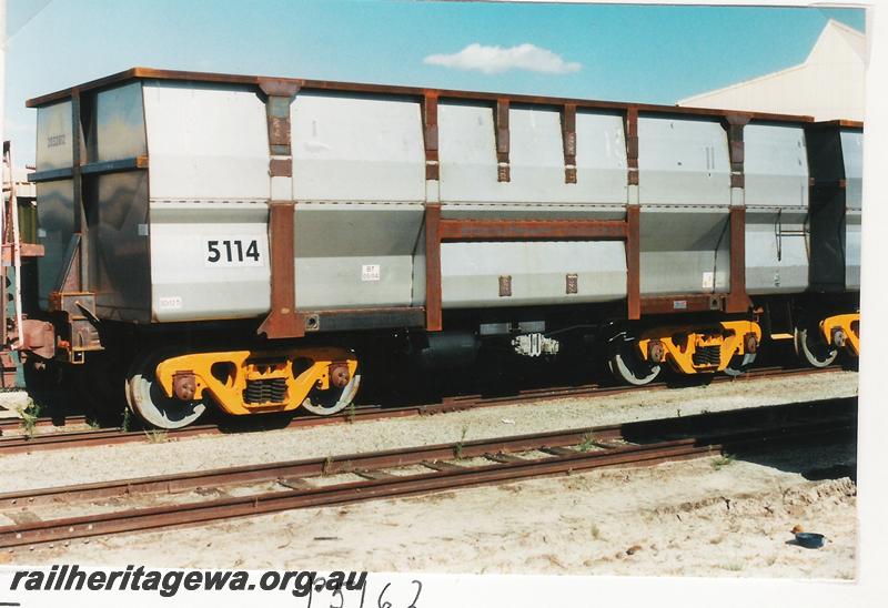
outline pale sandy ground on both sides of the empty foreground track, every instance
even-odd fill
[[[736,382],[423,418],[0,459],[3,490],[856,394],[857,375]],[[18,564],[852,578],[854,446],[607,469],[0,554]],[[183,497],[179,497],[182,499]],[[84,509],[85,511],[87,509]],[[17,515],[17,516],[20,516]],[[821,549],[789,544],[801,525]]]

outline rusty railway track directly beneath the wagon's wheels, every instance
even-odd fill
[[[783,368],[783,367],[761,367],[753,369],[739,377],[716,376],[712,378],[714,383],[724,382],[749,382],[763,377],[784,377],[784,376],[805,376],[820,373],[835,372],[838,366],[825,368]],[[482,396],[482,395],[461,395],[445,397],[438,403],[407,405],[397,407],[382,407],[376,405],[357,406],[351,412],[345,412],[334,416],[316,417],[294,417],[286,420],[283,425],[268,426],[263,419],[243,420],[243,424],[219,425],[204,424],[192,425],[180,429],[154,432],[150,429],[123,430],[121,428],[91,428],[83,430],[63,430],[51,433],[26,434],[22,432],[21,420],[3,420],[0,423],[0,454],[17,454],[38,450],[64,449],[73,447],[93,447],[99,445],[118,445],[127,443],[144,443],[147,440],[163,440],[194,437],[199,435],[219,435],[232,432],[255,432],[268,430],[271,428],[306,428],[327,424],[356,423],[365,420],[389,419],[414,415],[432,415],[446,412],[472,409],[476,407],[511,405],[527,402],[545,402],[565,397],[597,397],[615,395],[635,391],[662,391],[668,388],[665,382],[654,383],[644,387],[634,386],[606,386],[601,384],[587,384],[581,386],[556,386],[544,388],[532,388],[521,391],[516,395],[505,396]],[[84,416],[71,416],[64,418],[65,425],[85,424]],[[50,427],[53,418],[38,418],[34,425],[39,427]]]

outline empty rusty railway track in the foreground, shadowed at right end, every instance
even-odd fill
[[[599,467],[650,465],[790,443],[852,440],[856,403],[855,398],[829,399],[3,494],[0,495],[0,510],[10,511],[261,482],[273,482],[286,488],[3,526],[0,527],[0,548],[411,496]],[[465,464],[468,459],[482,462]],[[403,472],[403,467],[416,466],[422,467],[421,473]],[[313,478],[334,474],[349,474],[356,480],[312,485]],[[33,518],[33,515],[29,517]]]

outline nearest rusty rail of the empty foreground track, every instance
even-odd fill
[[[854,424],[844,422],[799,423],[774,427],[766,433],[741,430],[710,437],[685,438],[650,445],[610,447],[601,452],[574,452],[544,459],[509,459],[477,467],[446,467],[430,473],[351,482],[314,487],[271,492],[215,500],[164,505],[128,511],[85,517],[27,523],[0,527],[0,548],[57,543],[128,531],[203,524],[233,517],[278,513],[296,508],[342,505],[377,498],[403,497],[430,492],[474,487],[531,477],[577,473],[617,465],[650,465],[667,460],[715,455],[726,449],[761,447],[766,444],[835,438],[852,432]],[[456,444],[448,446],[456,448]]]

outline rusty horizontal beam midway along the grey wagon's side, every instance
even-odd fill
[[[625,239],[626,223],[610,220],[441,220],[442,241]]]

